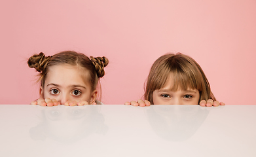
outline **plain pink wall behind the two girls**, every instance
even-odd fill
[[[0,19],[0,104],[38,98],[27,59],[63,50],[109,58],[105,104],[143,96],[152,63],[167,52],[194,58],[219,101],[255,104],[255,0],[3,0]]]

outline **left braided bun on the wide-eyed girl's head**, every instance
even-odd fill
[[[50,56],[45,56],[43,52],[34,54],[27,60],[27,65],[35,68],[39,73],[45,70],[45,67],[50,59]]]

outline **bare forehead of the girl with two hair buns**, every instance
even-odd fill
[[[78,65],[52,65],[48,68],[48,73],[45,79],[45,85],[49,83],[60,84],[62,86],[69,86],[79,84],[87,86],[86,76],[88,71],[79,67]]]

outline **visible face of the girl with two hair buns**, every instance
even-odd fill
[[[82,74],[83,73],[83,74]],[[67,101],[87,101],[94,103],[97,90],[92,91],[90,84],[84,82],[84,69],[73,65],[61,64],[49,67],[44,87],[40,93],[43,98],[56,99],[61,104]]]

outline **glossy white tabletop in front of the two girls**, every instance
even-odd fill
[[[0,105],[0,156],[256,156],[256,105]]]

